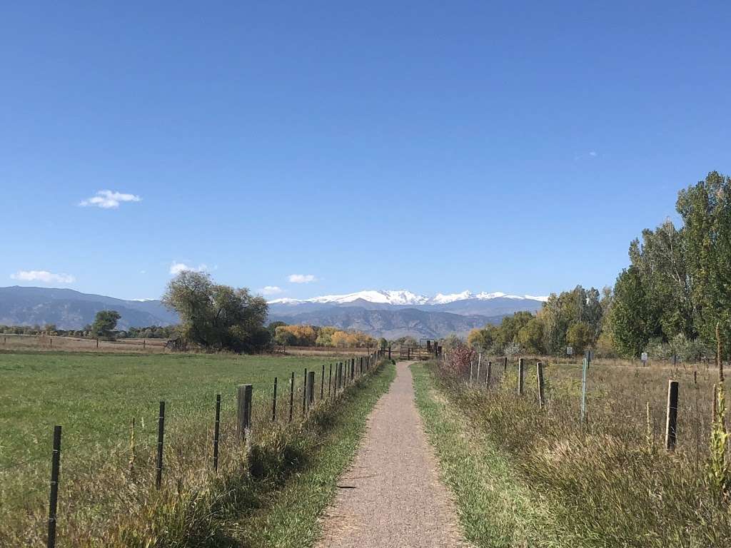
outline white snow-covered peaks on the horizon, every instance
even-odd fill
[[[493,300],[493,299],[517,299],[517,300],[534,300],[545,301],[548,297],[534,297],[532,295],[511,295],[502,292],[493,293],[473,293],[471,291],[463,291],[461,293],[443,294],[437,293],[433,297],[425,297],[418,295],[406,289],[398,289],[392,291],[376,291],[374,289],[360,291],[355,293],[347,293],[342,295],[322,295],[321,297],[312,297],[310,299],[290,299],[281,298],[270,300],[271,305],[297,305],[304,302],[317,302],[319,304],[346,304],[356,301],[366,301],[374,304],[382,305],[401,305],[401,306],[421,306],[421,305],[447,305],[452,302],[463,300]]]

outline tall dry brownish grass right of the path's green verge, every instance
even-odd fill
[[[517,372],[496,368],[491,387],[431,370],[475,428],[512,457],[531,490],[578,536],[606,547],[728,547],[731,510],[708,474],[715,370],[591,365],[588,419],[580,422],[578,365],[545,368],[537,404],[535,362],[526,393]],[[493,376],[494,376],[493,368]],[[680,382],[678,448],[664,450],[667,380]],[[648,411],[649,410],[649,411]]]

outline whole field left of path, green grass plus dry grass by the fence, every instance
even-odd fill
[[[53,425],[63,427],[61,536],[82,545],[88,530],[110,528],[110,509],[145,506],[140,497],[148,500],[145,493],[153,483],[161,400],[166,405],[164,487],[194,478],[200,487],[212,468],[216,394],[221,395],[219,468],[233,473],[244,458],[235,439],[237,385],[254,387],[251,438],[295,431],[305,419],[304,370],[316,372],[319,400],[324,364],[318,357],[0,352],[0,544],[42,543]],[[325,400],[328,372],[326,368]],[[273,427],[275,377],[279,393]]]

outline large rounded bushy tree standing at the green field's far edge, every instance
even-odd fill
[[[203,348],[254,352],[271,340],[266,300],[213,283],[208,273],[183,270],[168,283],[162,302],[181,317],[181,336]]]

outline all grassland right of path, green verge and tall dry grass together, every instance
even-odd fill
[[[536,361],[525,363],[522,396],[515,360],[504,370],[496,359],[489,384],[485,362],[471,380],[469,368],[414,366],[417,403],[470,541],[731,546],[731,501],[708,473],[715,368],[592,363],[581,421],[581,366],[550,362],[540,409]],[[680,387],[672,452],[664,446],[669,379]]]

